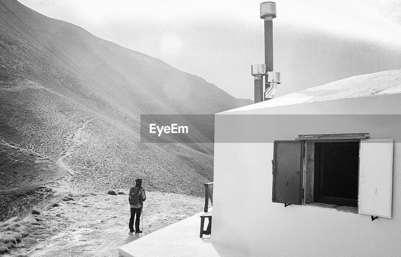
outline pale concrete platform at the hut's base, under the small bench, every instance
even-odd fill
[[[120,257],[233,257],[250,256],[216,245],[209,235],[199,237],[203,212],[159,229],[118,249]],[[207,221],[205,221],[205,227]]]

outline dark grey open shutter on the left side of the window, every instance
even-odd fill
[[[302,204],[304,141],[274,141],[274,203]]]

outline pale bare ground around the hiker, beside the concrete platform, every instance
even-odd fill
[[[128,233],[127,195],[87,195],[42,211],[41,223],[5,256],[117,257],[118,247],[202,211],[204,199],[172,193],[147,192],[143,234]]]

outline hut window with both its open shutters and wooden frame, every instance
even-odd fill
[[[393,140],[363,134],[275,141],[275,203],[319,205],[391,218]]]

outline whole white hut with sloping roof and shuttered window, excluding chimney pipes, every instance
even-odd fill
[[[401,70],[216,114],[212,242],[255,256],[400,256],[399,114]]]

